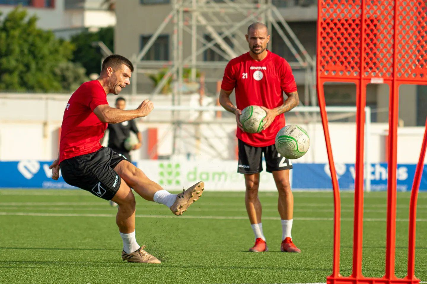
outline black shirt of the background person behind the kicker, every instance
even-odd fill
[[[125,140],[129,138],[131,131],[137,134],[138,128],[133,120],[122,123],[108,124],[108,148],[125,156],[131,161],[129,151],[125,148]]]

